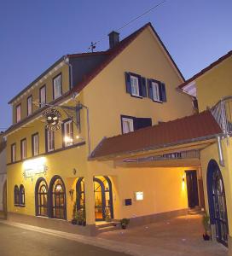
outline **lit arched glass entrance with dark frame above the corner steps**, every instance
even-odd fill
[[[94,177],[96,221],[113,218],[112,183],[107,176]]]

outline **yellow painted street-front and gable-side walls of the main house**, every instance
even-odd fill
[[[64,66],[63,68],[67,67]],[[159,79],[165,82],[167,102],[160,104],[148,98],[139,99],[126,94],[125,72],[138,73],[148,79]],[[176,90],[177,84],[181,82],[182,79],[172,67],[171,61],[166,57],[164,50],[160,48],[151,30],[146,29],[102,73],[96,76],[76,99],[90,109],[91,148],[95,148],[102,137],[111,137],[121,133],[121,114],[150,117],[153,119],[153,124],[157,124],[158,121],[177,119],[192,114],[191,98]],[[67,86],[68,81],[63,76],[64,84]],[[37,93],[35,90],[35,94]],[[71,102],[68,104],[71,104]],[[26,109],[25,103],[22,108]],[[66,119],[66,114],[62,111],[61,113],[62,119]],[[85,109],[81,111],[81,118],[81,136],[87,140]],[[26,128],[21,128],[8,137],[8,163],[10,162],[10,145],[12,143],[17,145],[17,161],[20,161],[20,139],[24,137],[27,139],[27,157],[32,156],[31,137],[35,132],[39,132],[39,152],[44,155],[43,119],[37,119],[25,126]],[[78,131],[74,131],[74,137],[76,135],[78,135]],[[61,148],[61,140],[61,131],[57,131],[55,133],[55,149]],[[78,143],[78,141],[75,141],[75,143]],[[133,214],[136,214],[136,216],[148,215],[187,207],[186,190],[182,189],[183,169],[123,169],[115,168],[113,161],[107,164],[96,164],[95,161],[87,161],[87,144],[80,146],[80,148],[70,148],[55,154],[45,154],[45,157],[49,167],[45,176],[47,183],[54,175],[60,175],[66,184],[68,219],[72,218],[73,212],[73,201],[68,191],[75,187],[77,177],[84,177],[86,183],[85,197],[87,199],[88,224],[95,223],[94,176],[107,175],[111,177],[115,218],[133,217]],[[73,175],[73,168],[78,170],[76,175]],[[38,177],[25,179],[22,174],[21,161],[8,166],[9,212],[20,212],[34,216],[34,189]],[[14,207],[14,185],[20,186],[20,183],[23,183],[26,189],[26,207],[23,208]],[[144,191],[144,201],[134,202],[132,207],[123,207],[123,200],[127,197],[133,197],[134,192],[141,189]]]

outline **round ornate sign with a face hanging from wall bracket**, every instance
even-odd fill
[[[61,113],[55,108],[44,110],[43,116],[46,119],[45,128],[49,131],[57,131],[61,129]]]

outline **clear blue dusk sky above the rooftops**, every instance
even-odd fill
[[[0,0],[0,129],[11,125],[9,100],[61,55],[85,52],[102,37],[96,50],[107,49],[108,32],[160,2]],[[231,9],[231,0],[167,0],[120,38],[150,21],[188,79],[232,49]]]

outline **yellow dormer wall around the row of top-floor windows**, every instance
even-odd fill
[[[16,122],[16,106],[21,103],[21,119],[25,119],[27,116],[27,97],[32,95],[32,102],[39,100],[39,89],[46,84],[46,100],[47,102],[53,101],[53,79],[61,73],[62,76],[62,93],[66,93],[69,90],[69,71],[68,66],[63,65],[62,67],[58,68],[54,73],[51,75],[47,74],[46,79],[41,79],[38,83],[34,84],[35,86],[31,90],[27,90],[26,94],[19,97],[17,102],[12,104],[12,121],[13,124]],[[36,111],[38,107],[32,104],[32,113]]]

